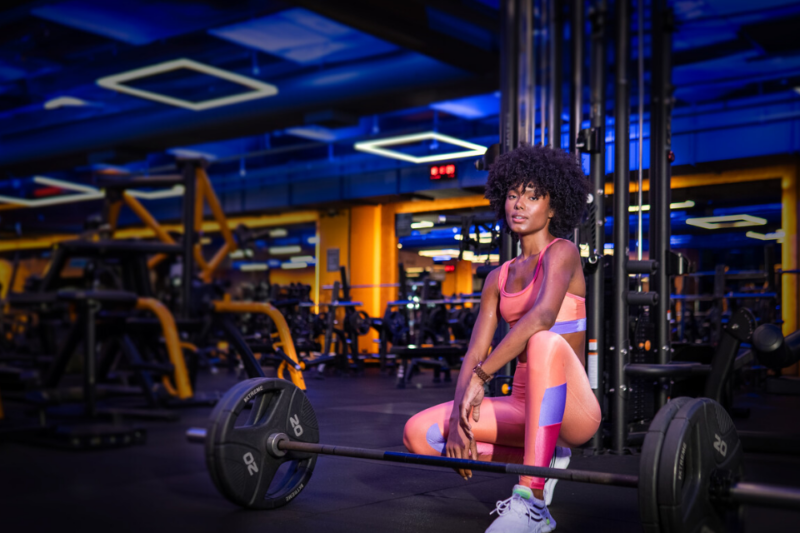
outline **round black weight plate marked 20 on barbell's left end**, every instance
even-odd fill
[[[274,433],[319,442],[311,403],[290,381],[245,380],[233,386],[211,412],[206,463],[217,490],[231,502],[272,509],[288,503],[308,484],[316,456],[292,452],[273,457],[267,452],[267,439]],[[281,469],[284,463],[289,464]],[[273,481],[279,469],[285,473]]]

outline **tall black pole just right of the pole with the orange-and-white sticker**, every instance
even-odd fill
[[[628,203],[630,180],[630,107],[628,88],[628,58],[630,55],[630,0],[616,2],[616,37],[614,49],[614,281],[612,298],[614,309],[612,340],[612,450],[622,453],[625,446],[625,402],[628,387],[625,365],[628,362]]]

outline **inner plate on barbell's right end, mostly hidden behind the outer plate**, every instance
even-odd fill
[[[639,515],[646,533],[659,533],[658,519],[658,465],[661,458],[661,447],[664,436],[672,419],[681,407],[692,399],[685,396],[667,402],[658,410],[642,445],[642,457],[639,460]]]

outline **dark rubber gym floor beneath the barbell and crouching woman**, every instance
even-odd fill
[[[200,388],[225,391],[231,375],[202,375]],[[404,451],[402,431],[414,413],[452,399],[452,383],[396,389],[377,370],[363,377],[308,380],[308,397],[330,444]],[[737,398],[751,408],[740,429],[786,430],[800,398]],[[289,505],[245,511],[225,500],[206,470],[203,446],[185,430],[205,426],[210,408],[181,410],[179,422],[147,422],[147,442],[122,449],[70,452],[6,443],[0,446],[3,531],[38,532],[483,532],[495,502],[510,495],[512,476],[475,472],[465,482],[454,472],[340,457],[321,457],[308,487]],[[777,425],[780,424],[780,425]],[[570,467],[638,474],[638,456],[584,457],[573,450]],[[748,454],[748,480],[798,485],[800,456]],[[559,532],[638,532],[635,490],[562,481],[550,507]],[[796,532],[797,513],[745,510],[745,531]]]

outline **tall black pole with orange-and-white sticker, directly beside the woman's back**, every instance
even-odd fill
[[[582,0],[579,0],[582,4]],[[582,5],[581,5],[582,7]],[[592,7],[589,14],[592,21],[592,66],[591,66],[591,126],[598,130],[597,150],[590,155],[590,175],[592,194],[594,194],[594,241],[592,243],[596,263],[587,276],[586,287],[586,336],[589,340],[587,363],[589,382],[594,389],[600,409],[605,410],[605,383],[603,383],[603,354],[605,353],[605,268],[603,254],[605,248],[606,220],[606,4],[601,0]],[[594,436],[594,449],[601,450],[602,430]]]

